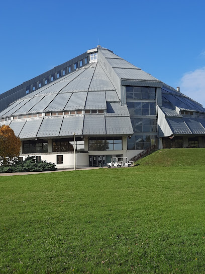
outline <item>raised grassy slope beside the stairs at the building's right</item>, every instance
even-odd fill
[[[143,166],[205,165],[205,149],[163,149],[136,162]]]

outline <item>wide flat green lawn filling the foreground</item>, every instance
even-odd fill
[[[0,273],[205,273],[204,178],[203,165],[2,176]]]

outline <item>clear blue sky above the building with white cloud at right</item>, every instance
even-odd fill
[[[0,93],[99,44],[205,106],[205,1],[4,1]]]

